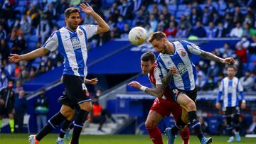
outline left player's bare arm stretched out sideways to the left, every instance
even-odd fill
[[[46,53],[48,53],[48,52],[49,52],[49,50],[41,47],[36,50],[33,50],[32,52],[23,54],[23,55],[11,54],[11,56],[9,56],[9,61],[10,62],[19,62],[21,60],[33,60],[36,57],[42,57],[43,55],[46,55]]]

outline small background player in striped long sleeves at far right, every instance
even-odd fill
[[[240,109],[239,109],[239,99],[238,93],[241,95],[241,109],[245,109],[245,94],[243,92],[243,87],[238,77],[235,77],[236,68],[235,66],[228,67],[228,77],[222,79],[219,87],[218,97],[216,99],[216,108],[220,109],[220,97],[223,95],[223,113],[227,122],[227,131],[230,138],[228,143],[234,141],[233,128],[235,128],[235,139],[240,141]]]

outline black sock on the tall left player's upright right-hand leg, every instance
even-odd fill
[[[80,133],[82,131],[83,123],[85,122],[85,119],[86,119],[88,113],[89,113],[88,111],[85,111],[83,109],[80,109],[78,111],[78,116],[75,118],[73,137],[72,137],[70,144],[78,144],[79,143]]]

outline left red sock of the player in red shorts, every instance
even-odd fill
[[[147,127],[146,130],[149,133],[149,137],[153,141],[154,144],[164,144],[163,139],[161,137],[161,131],[157,126]]]

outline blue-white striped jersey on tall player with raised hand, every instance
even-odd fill
[[[43,45],[50,51],[58,48],[64,57],[63,74],[86,77],[87,39],[97,33],[97,25],[81,25],[75,31],[60,28],[53,32]]]

